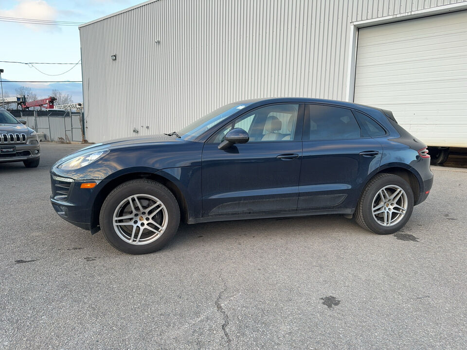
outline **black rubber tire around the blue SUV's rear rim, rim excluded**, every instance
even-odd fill
[[[378,224],[377,219],[373,216],[372,212],[373,201],[376,198],[377,193],[385,186],[397,186],[405,192],[407,197],[407,210],[405,210],[405,214],[401,217],[400,221],[395,223],[393,226],[383,226]],[[405,226],[412,215],[412,211],[413,191],[407,181],[397,175],[381,173],[375,175],[375,177],[373,177],[363,189],[357,208],[355,209],[355,220],[361,227],[377,234],[391,234]]]

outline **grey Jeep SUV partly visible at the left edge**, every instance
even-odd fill
[[[37,133],[24,124],[25,120],[18,120],[6,109],[0,108],[0,163],[22,161],[26,168],[39,165]]]

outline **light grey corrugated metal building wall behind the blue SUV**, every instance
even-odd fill
[[[80,27],[87,138],[177,130],[246,98],[345,100],[351,22],[456,2],[158,0],[90,22]]]

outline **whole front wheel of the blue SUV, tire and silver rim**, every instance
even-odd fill
[[[180,208],[172,192],[159,182],[136,179],[109,193],[99,222],[115,248],[129,254],[152,253],[177,232]]]

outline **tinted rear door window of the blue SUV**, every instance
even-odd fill
[[[360,138],[360,127],[352,111],[327,105],[307,105],[309,140]]]

